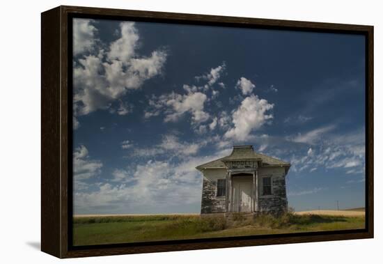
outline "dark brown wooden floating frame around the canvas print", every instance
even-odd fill
[[[72,246],[72,18],[166,22],[366,37],[366,228]],[[41,15],[41,249],[59,258],[373,238],[373,26],[59,6]]]

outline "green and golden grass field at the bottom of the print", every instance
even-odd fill
[[[73,219],[73,244],[114,244],[242,235],[335,231],[364,228],[364,215],[286,213],[280,217],[227,222],[225,217],[199,215],[80,216]]]

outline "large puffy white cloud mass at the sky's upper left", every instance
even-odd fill
[[[149,56],[137,52],[139,33],[132,22],[120,23],[120,38],[84,55],[74,63],[75,88],[74,110],[78,116],[97,109],[111,109],[116,100],[121,100],[127,91],[139,89],[142,84],[160,75],[166,62],[166,52],[153,51]],[[117,101],[118,102],[118,101]],[[130,112],[130,107],[120,101],[115,111],[120,115]]]

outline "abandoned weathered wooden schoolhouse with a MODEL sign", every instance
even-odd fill
[[[283,212],[288,208],[290,164],[234,146],[230,155],[196,167],[203,173],[201,215],[230,212]]]

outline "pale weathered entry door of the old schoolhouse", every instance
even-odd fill
[[[233,184],[233,212],[251,212],[251,181]]]

